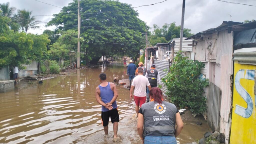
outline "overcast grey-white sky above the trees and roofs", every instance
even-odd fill
[[[59,7],[67,6],[73,0],[39,0],[45,3],[56,5]],[[119,0],[123,3],[131,4],[132,6],[148,5],[163,0]],[[256,5],[256,0],[225,0],[229,2],[243,3],[249,5]],[[10,2],[11,6],[17,9],[27,9],[33,11],[35,15],[52,15],[59,13],[61,8],[37,2],[35,0],[1,0],[1,3]],[[219,26],[222,21],[243,22],[246,19],[256,19],[256,7],[229,4],[216,0],[186,0],[185,21],[184,27],[192,30],[192,33],[198,33],[202,30],[215,28]],[[139,13],[139,18],[147,25],[153,27],[157,24],[162,27],[164,23],[176,22],[181,24],[182,0],[168,0],[166,2],[135,8]],[[229,16],[231,15],[231,17]],[[36,16],[37,20],[42,22],[49,22],[52,16]],[[38,30],[28,30],[30,33],[42,34],[45,29],[54,29],[55,27],[45,27],[41,24]]]

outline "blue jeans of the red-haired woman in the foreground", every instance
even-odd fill
[[[146,136],[144,139],[144,144],[177,144],[176,138],[174,136]]]

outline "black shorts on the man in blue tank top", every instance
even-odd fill
[[[103,127],[109,125],[109,117],[112,124],[114,122],[119,122],[119,114],[117,108],[105,112],[101,111],[101,124]]]

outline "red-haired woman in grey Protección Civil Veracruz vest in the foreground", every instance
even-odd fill
[[[162,95],[159,88],[152,88],[151,102],[143,104],[139,110],[137,131],[142,143],[177,144],[176,137],[183,129],[183,122],[176,106],[163,101]]]

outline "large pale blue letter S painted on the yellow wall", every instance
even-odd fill
[[[246,74],[244,75],[244,72],[246,71]],[[235,77],[235,87],[238,92],[238,94],[246,101],[247,108],[243,108],[239,105],[236,105],[235,113],[244,117],[249,118],[252,115],[253,110],[253,103],[252,98],[248,94],[248,92],[241,86],[240,79],[249,79],[254,80],[255,70],[245,70],[240,69]],[[256,99],[255,99],[256,102]]]

